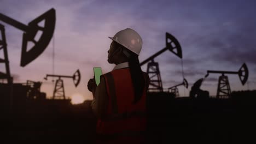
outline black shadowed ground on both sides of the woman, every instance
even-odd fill
[[[256,96],[256,95],[255,95]],[[150,143],[254,143],[256,98],[148,97]],[[13,113],[2,112],[0,143],[92,143],[96,118],[90,102],[26,100]]]

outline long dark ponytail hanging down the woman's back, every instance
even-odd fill
[[[136,104],[142,97],[143,89],[145,86],[145,79],[143,72],[141,70],[141,65],[139,65],[138,55],[133,52],[129,52],[131,56],[129,57],[129,67],[132,79],[132,85],[134,88],[135,98],[133,104]]]

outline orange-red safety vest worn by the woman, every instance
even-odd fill
[[[130,68],[116,69],[104,74],[109,104],[106,116],[97,121],[97,143],[144,143],[146,133],[146,85],[136,104]]]

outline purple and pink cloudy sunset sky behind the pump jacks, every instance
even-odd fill
[[[238,75],[229,75],[231,91],[256,89],[256,2],[243,0],[0,0],[0,13],[27,25],[28,22],[54,8],[55,70],[54,74],[82,75],[77,88],[72,79],[63,79],[66,95],[82,94],[92,99],[87,82],[93,77],[93,67],[103,73],[114,65],[107,62],[112,37],[121,29],[135,29],[143,39],[139,60],[152,56],[165,47],[165,33],[171,33],[182,46],[184,76],[189,88],[179,87],[180,95],[188,95],[193,83],[207,70],[238,71],[245,62],[249,80],[242,86]],[[42,92],[53,95],[53,83],[45,81],[53,74],[53,41],[35,61],[20,67],[22,31],[3,23],[8,43],[10,71],[15,82],[42,81]],[[0,51],[3,57],[3,51]],[[182,82],[181,59],[166,51],[155,58],[159,62],[164,88]],[[143,65],[147,70],[147,64]],[[0,71],[5,71],[4,64]],[[219,74],[210,74],[202,89],[216,95]],[[185,93],[184,93],[185,92]]]

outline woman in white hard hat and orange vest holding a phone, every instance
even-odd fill
[[[110,39],[108,62],[116,64],[114,69],[101,76],[98,86],[94,79],[88,82],[94,95],[92,110],[98,117],[97,143],[143,143],[149,77],[138,60],[142,39],[131,28]]]

